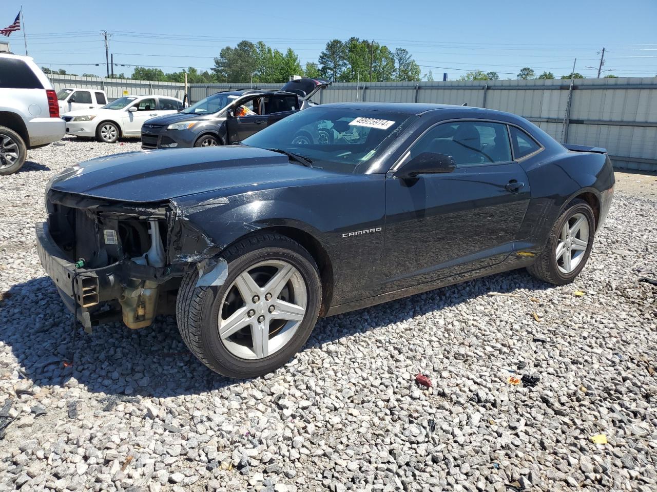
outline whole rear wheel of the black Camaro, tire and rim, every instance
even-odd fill
[[[591,206],[581,199],[573,200],[556,220],[545,249],[527,270],[555,285],[571,283],[589,259],[594,234]]]

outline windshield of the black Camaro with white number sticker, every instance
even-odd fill
[[[399,113],[313,106],[242,140],[301,155],[313,167],[362,173],[411,121]]]

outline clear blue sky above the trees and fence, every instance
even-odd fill
[[[468,70],[515,78],[524,66],[586,77],[597,75],[598,52],[614,75],[657,75],[657,0],[564,1],[342,1],[287,3],[212,0],[140,0],[132,3],[24,1],[28,51],[41,65],[74,73],[105,73],[110,31],[115,72],[132,66],[210,68],[212,58],[241,39],[294,49],[302,63],[316,61],[329,39],[356,36],[391,49],[403,47],[440,79]],[[20,2],[3,1],[0,28],[11,24]],[[408,7],[400,7],[407,5]],[[0,36],[3,41],[5,37]],[[22,33],[9,38],[24,54]],[[95,64],[101,64],[95,66]],[[593,66],[595,68],[586,68]],[[179,68],[180,67],[180,68]],[[603,74],[603,75],[604,75]]]

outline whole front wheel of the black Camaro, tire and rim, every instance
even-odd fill
[[[278,369],[309,337],[321,305],[312,256],[292,239],[259,234],[221,255],[228,277],[219,287],[196,287],[183,277],[176,318],[185,344],[213,371],[250,378]]]

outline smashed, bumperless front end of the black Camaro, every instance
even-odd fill
[[[157,314],[175,313],[187,272],[198,270],[197,285],[227,275],[221,245],[173,200],[138,204],[51,189],[46,207],[47,222],[36,226],[39,258],[87,332],[119,320],[147,327]]]

